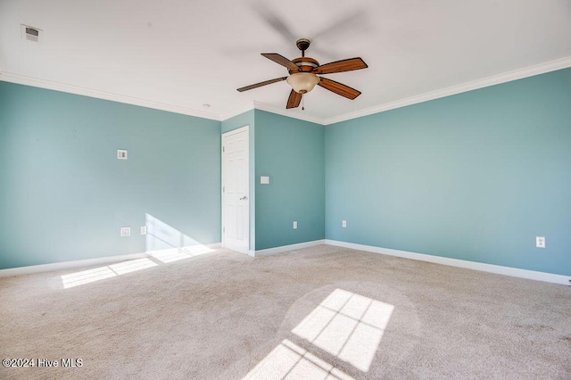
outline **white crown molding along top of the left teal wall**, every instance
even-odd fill
[[[183,115],[195,116],[197,118],[217,120],[217,121],[220,120],[219,115],[212,112],[203,112],[203,111],[193,110],[191,108],[179,107],[177,105],[153,102],[151,100],[140,99],[133,96],[119,95],[106,91],[99,91],[93,88],[72,86],[60,82],[54,82],[51,80],[27,77],[24,75],[15,74],[13,72],[0,71],[0,80],[24,86],[40,87],[40,88],[46,88],[48,90],[62,91],[70,94],[95,97],[98,99],[110,100],[112,102],[138,105],[141,107],[153,108],[155,110],[181,113]]]

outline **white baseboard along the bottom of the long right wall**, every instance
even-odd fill
[[[373,245],[346,243],[337,240],[326,239],[325,244],[335,245],[343,248],[351,248],[353,250],[381,253],[389,256],[397,256],[404,259],[434,262],[436,264],[448,265],[451,267],[481,270],[484,272],[496,273],[499,275],[522,277],[532,280],[545,281],[554,284],[571,285],[571,283],[569,282],[571,280],[570,276],[555,275],[552,273],[545,273],[545,272],[536,272],[534,270],[527,270],[520,268],[502,267],[501,265],[485,264],[483,262],[451,259],[448,257],[434,256],[424,253],[398,251],[389,248],[376,247]]]

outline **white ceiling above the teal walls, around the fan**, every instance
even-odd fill
[[[260,53],[296,58],[297,37],[321,63],[367,62],[327,76],[362,95],[316,87],[286,111],[285,82],[236,91],[287,75]],[[569,0],[0,0],[0,79],[219,120],[256,103],[327,124],[542,64],[571,66]]]

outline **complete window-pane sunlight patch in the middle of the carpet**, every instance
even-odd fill
[[[367,372],[393,310],[388,303],[335,289],[292,332]]]

